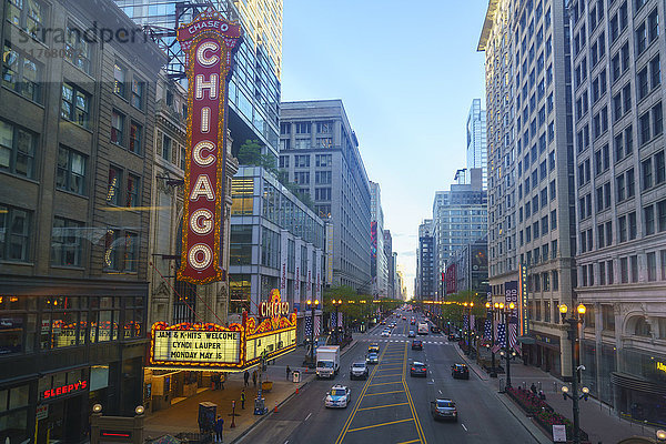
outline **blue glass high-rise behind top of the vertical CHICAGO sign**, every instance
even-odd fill
[[[264,152],[278,155],[280,119],[280,71],[282,62],[282,0],[114,0],[137,23],[149,26],[151,32],[170,44],[176,21],[192,21],[202,4],[211,4],[229,20],[238,20],[243,41],[235,54],[233,74],[229,82],[229,130],[232,151],[239,152],[245,140],[259,140]],[[198,7],[191,7],[196,4]],[[178,14],[176,14],[178,12]],[[167,31],[167,32],[164,32]],[[171,49],[168,72],[183,71],[184,58],[180,44]]]

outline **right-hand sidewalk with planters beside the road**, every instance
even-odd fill
[[[500,389],[500,380],[506,380],[505,374],[500,374],[498,377],[490,379],[485,370],[483,370],[475,362],[472,362],[460,347],[455,347],[461,357],[465,360],[467,365],[480,376],[485,384],[490,385],[495,392]],[[502,365],[505,365],[503,362]],[[524,365],[522,361],[513,361],[511,363],[511,381],[514,387],[518,385],[529,389],[532,383],[544,391],[546,394],[546,402],[561,415],[573,418],[572,401],[565,400],[562,396],[561,387],[564,383],[553,375],[542,371],[538,367],[531,365]],[[532,420],[527,418],[517,404],[506,395],[498,395],[502,402],[512,408],[514,412],[536,426]],[[585,402],[581,400],[578,403],[581,406],[581,428],[589,436],[589,442],[594,444],[614,444],[623,438],[630,436],[649,436],[654,437],[656,430],[653,427],[642,427],[640,425],[632,422],[620,420],[612,410],[605,404],[602,404],[597,400],[589,397],[589,401]],[[518,416],[516,416],[518,417]],[[522,421],[523,422],[523,421]],[[541,431],[542,428],[538,427]],[[552,436],[547,436],[548,442],[552,442]]]

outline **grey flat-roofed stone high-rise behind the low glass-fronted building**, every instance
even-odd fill
[[[341,100],[281,104],[280,169],[333,225],[332,285],[370,293],[370,181]]]

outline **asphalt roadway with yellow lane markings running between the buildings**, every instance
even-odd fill
[[[402,319],[402,315],[406,320]],[[535,440],[497,400],[474,372],[470,380],[453,380],[451,365],[461,362],[453,344],[442,334],[417,336],[423,351],[412,351],[411,312],[402,312],[390,337],[382,337],[383,325],[363,335],[341,359],[340,374],[333,380],[314,380],[285,403],[241,443],[268,444],[353,444],[353,443],[533,443]],[[420,314],[415,315],[417,321]],[[380,363],[370,366],[366,381],[350,381],[354,361],[363,361],[371,342],[380,344]],[[427,377],[411,377],[413,361],[428,365]],[[347,408],[324,407],[324,396],[333,384],[352,390]],[[458,422],[434,421],[430,402],[452,398]]]

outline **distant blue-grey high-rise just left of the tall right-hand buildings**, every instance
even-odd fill
[[[437,191],[433,203],[433,236],[435,238],[435,273],[446,270],[454,251],[486,235],[487,192],[483,190],[481,169],[468,171],[468,184],[451,185]],[[437,279],[435,294],[443,295],[444,282]]]

